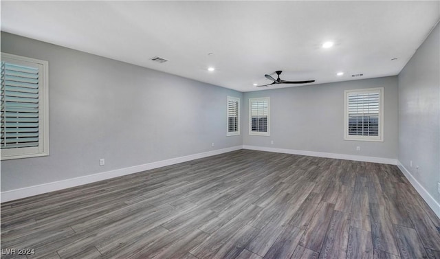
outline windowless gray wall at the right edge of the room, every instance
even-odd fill
[[[399,74],[399,161],[440,203],[439,49],[438,24]]]

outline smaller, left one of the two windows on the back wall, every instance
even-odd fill
[[[249,99],[249,135],[270,135],[269,98]]]

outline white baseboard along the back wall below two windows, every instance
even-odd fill
[[[345,154],[325,153],[325,152],[315,152],[315,151],[305,151],[305,150],[294,150],[294,149],[285,149],[285,148],[267,148],[264,146],[244,145],[243,148],[244,149],[251,149],[251,150],[259,150],[259,151],[268,151],[268,152],[274,152],[274,153],[285,153],[285,154],[292,154],[292,155],[307,155],[310,157],[327,157],[327,158],[335,158],[335,159],[344,159],[344,160],[364,161],[364,162],[372,162],[372,163],[380,163],[380,164],[397,165],[397,159],[382,158],[382,157],[366,157],[366,156],[361,156],[361,155],[345,155]]]

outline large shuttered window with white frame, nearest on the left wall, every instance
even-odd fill
[[[1,160],[49,155],[47,61],[1,53]]]

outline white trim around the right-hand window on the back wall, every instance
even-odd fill
[[[348,98],[350,93],[379,93],[379,133],[377,136],[349,135]],[[351,89],[344,91],[344,140],[384,142],[384,87]]]

